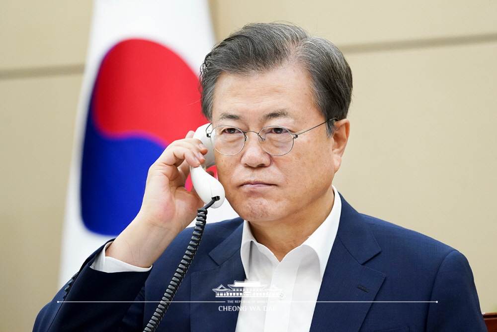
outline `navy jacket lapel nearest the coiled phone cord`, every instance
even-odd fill
[[[191,331],[218,332],[235,331],[238,319],[236,308],[241,297],[216,298],[213,289],[234,281],[245,281],[245,271],[240,257],[243,223],[209,255],[218,264],[212,269],[197,271],[191,276]],[[205,301],[213,301],[206,303]],[[222,303],[214,303],[222,301]],[[233,301],[233,302],[228,302]],[[238,301],[238,302],[237,302]],[[235,310],[234,310],[235,308]]]

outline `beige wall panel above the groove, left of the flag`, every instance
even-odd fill
[[[0,70],[83,64],[92,4],[0,1]]]

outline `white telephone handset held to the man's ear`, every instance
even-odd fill
[[[209,152],[204,155],[205,163],[198,167],[190,166],[190,177],[197,195],[205,204],[212,201],[214,197],[219,196],[219,200],[212,205],[213,208],[219,208],[223,204],[225,198],[223,185],[205,171],[215,164],[214,147],[212,146],[211,139],[207,137],[206,134],[206,129],[209,125],[210,123],[201,125],[193,135],[193,138],[200,139]]]

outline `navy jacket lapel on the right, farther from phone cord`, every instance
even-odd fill
[[[381,251],[369,226],[342,198],[340,223],[323,276],[311,332],[359,331],[385,274],[363,266]]]

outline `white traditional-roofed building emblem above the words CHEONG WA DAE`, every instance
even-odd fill
[[[233,285],[228,285],[226,288],[220,285],[214,288],[217,298],[230,298],[230,297],[281,297],[282,290],[274,286],[266,289],[267,285],[261,285],[260,281],[235,281]]]

